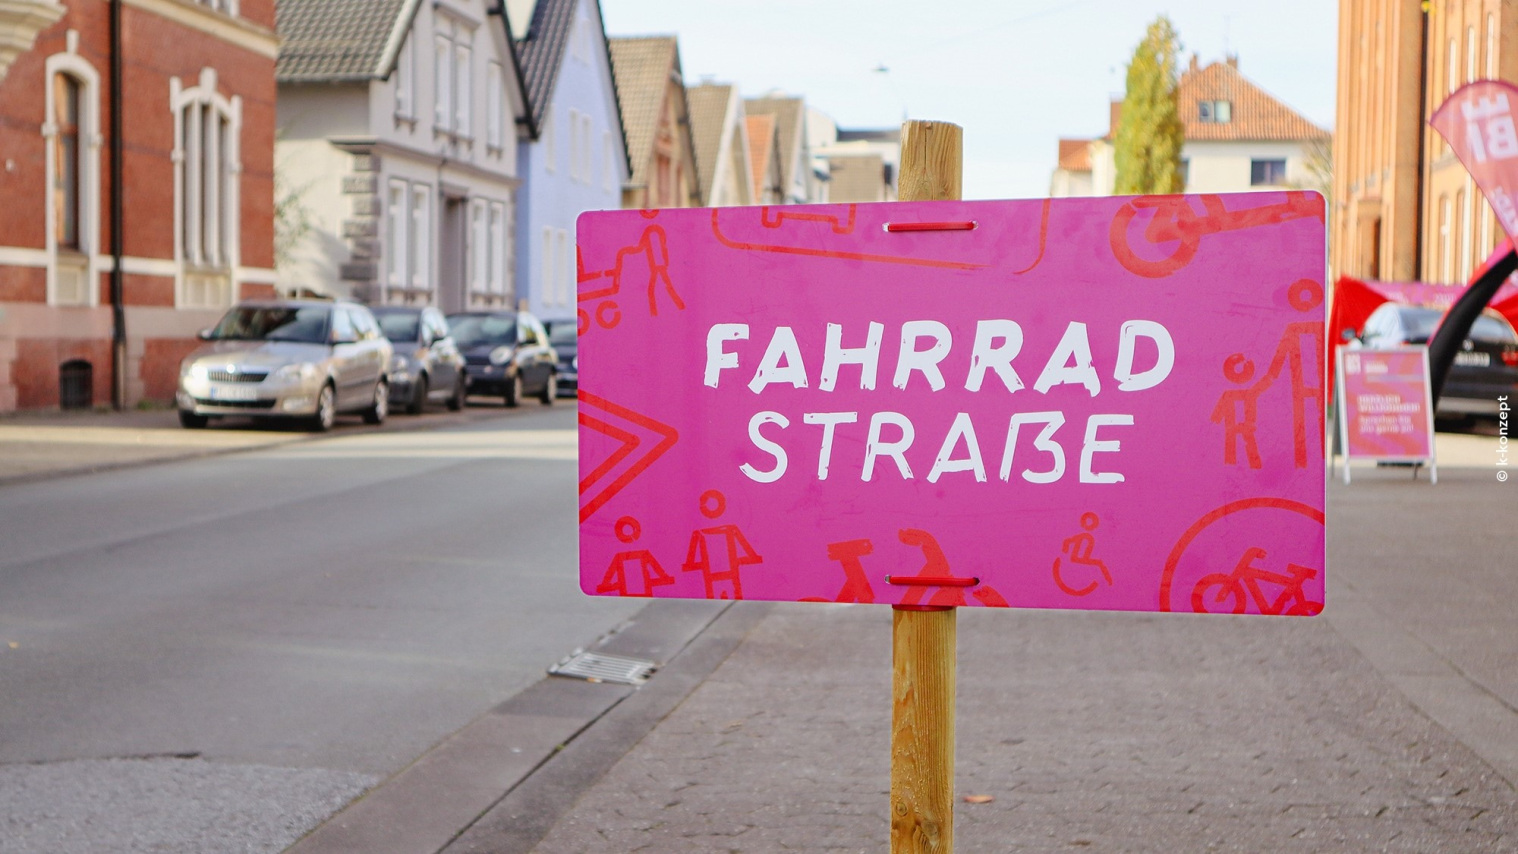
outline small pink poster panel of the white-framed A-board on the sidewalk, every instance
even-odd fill
[[[1339,347],[1340,438],[1346,458],[1433,460],[1428,350]]]

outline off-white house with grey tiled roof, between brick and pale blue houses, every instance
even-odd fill
[[[521,65],[495,0],[281,0],[287,293],[515,306]],[[288,218],[288,215],[287,215]]]

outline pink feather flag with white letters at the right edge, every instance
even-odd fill
[[[1518,240],[1518,86],[1475,80],[1456,89],[1428,120],[1492,205],[1509,238]]]

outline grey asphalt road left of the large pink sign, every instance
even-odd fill
[[[279,851],[619,625],[574,426],[0,487],[0,851]]]

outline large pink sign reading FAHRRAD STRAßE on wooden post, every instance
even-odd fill
[[[586,593],[1313,614],[1313,193],[589,212]]]

